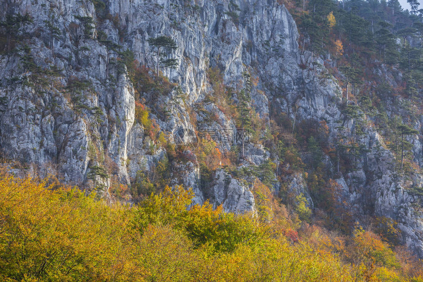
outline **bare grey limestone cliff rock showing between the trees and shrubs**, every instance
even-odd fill
[[[277,0],[108,0],[105,9],[90,0],[21,0],[2,1],[0,7],[0,20],[7,13],[29,13],[33,19],[20,29],[23,39],[16,42],[18,48],[0,55],[2,154],[32,171],[54,168],[67,183],[88,189],[101,184],[106,197],[113,198],[113,182],[131,186],[137,174],[152,173],[170,153],[151,140],[149,128],[136,119],[135,100],[144,99],[151,120],[169,143],[189,148],[180,152],[184,159],[170,161],[170,185],[193,188],[194,203],[210,199],[225,211],[254,210],[248,185],[223,168],[211,176],[211,183],[201,184],[201,170],[192,154],[199,138],[196,129],[218,132],[217,146],[228,151],[236,145],[237,134],[233,117],[218,101],[207,99],[214,94],[207,75],[210,68],[218,68],[225,85],[233,89],[251,83],[248,73],[254,80],[252,106],[265,120],[271,111],[286,114],[293,131],[303,120],[324,123],[332,144],[356,126],[339,106],[342,89],[325,68],[328,58],[300,53],[295,21]],[[58,29],[56,34],[47,23]],[[160,71],[179,89],[137,93],[122,52],[133,52],[136,66],[146,66],[152,74],[156,56],[148,39],[159,35],[171,36],[178,45],[167,57],[177,59],[177,67]],[[384,74],[393,86],[401,79],[400,73],[388,69],[375,69],[374,74]],[[85,82],[89,83],[81,86]],[[232,100],[237,99],[234,94]],[[394,113],[394,105],[387,107]],[[421,116],[415,128],[422,132],[422,126]],[[263,137],[263,132],[258,135]],[[419,138],[411,136],[409,141],[422,166]],[[422,187],[422,175],[401,176],[393,154],[371,125],[358,143],[364,153],[355,159],[353,172],[342,175],[324,156],[340,197],[357,219],[370,214],[397,221],[403,242],[423,257],[420,199],[409,192]],[[256,169],[272,158],[267,148],[253,143],[245,144],[243,155],[240,170]],[[313,208],[301,174],[286,182]]]

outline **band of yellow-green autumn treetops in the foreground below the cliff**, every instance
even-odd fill
[[[423,281],[416,259],[360,227],[352,239],[315,226],[299,236],[260,187],[272,213],[235,215],[187,209],[193,195],[182,187],[129,207],[3,173],[1,280]]]

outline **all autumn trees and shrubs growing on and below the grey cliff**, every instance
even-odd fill
[[[93,2],[97,15],[111,20],[123,40],[124,29],[112,15],[106,15],[106,4]],[[137,203],[133,207],[96,200],[94,194],[48,185],[48,181],[2,175],[0,278],[421,281],[421,262],[398,247],[404,243],[398,223],[374,218],[369,212],[368,226],[372,229],[364,230],[356,224],[357,215],[352,214],[348,201],[339,194],[336,179],[358,169],[368,149],[360,138],[370,129],[383,136],[381,146],[393,153],[395,175],[420,171],[414,162],[411,137],[418,133],[415,128],[422,114],[423,10],[418,10],[416,0],[410,0],[411,13],[402,10],[397,0],[279,2],[289,7],[298,24],[302,60],[310,55],[311,62],[302,61],[301,67],[319,76],[313,79],[322,83],[335,79],[342,88],[342,99],[336,102],[343,116],[337,121],[336,132],[332,129],[335,137],[329,137],[325,121],[292,120],[291,113],[280,113],[272,109],[272,104],[270,116],[256,113],[252,92],[259,92],[256,86],[263,81],[251,66],[246,67],[239,89],[225,85],[218,67],[208,69],[210,93],[188,104],[181,88],[160,71],[178,63],[170,59],[178,48],[173,38],[150,38],[155,51],[153,71],[135,61],[130,50],[123,51],[122,46],[108,40],[94,19],[75,16],[86,39],[95,40],[94,27],[98,30],[96,40],[107,49],[106,78],[115,81],[112,70],[116,68],[116,78],[126,73],[132,82],[135,126],[145,132],[146,154],[154,155],[162,148],[166,154],[149,170],[139,170],[128,192],[128,187],[110,177],[113,165],[107,165],[100,146],[89,144],[90,158],[98,162],[90,165],[87,174],[92,187],[105,188],[102,181],[110,179],[108,193],[118,199],[131,193]],[[231,12],[226,14],[237,26],[243,21],[238,12],[239,7],[231,2]],[[60,36],[54,22],[54,18],[45,22],[53,56],[54,40]],[[23,38],[32,35],[21,31],[31,23],[28,15],[20,14],[1,21],[0,47],[1,53],[20,47],[16,50],[29,73],[23,83],[41,93],[54,88],[59,70],[37,66],[30,48],[22,46]],[[325,73],[318,73],[318,62],[325,63]],[[92,83],[77,77],[66,81],[66,85],[60,82],[58,89],[70,104],[73,120],[93,112],[91,126],[102,124],[107,116],[87,103]],[[172,98],[164,103],[167,100],[162,98],[170,94]],[[263,145],[270,158],[261,165],[241,166],[244,144],[234,144],[235,148],[224,151],[217,141],[206,143],[201,138],[194,152],[181,153],[184,150],[169,141],[156,120],[168,120],[171,106],[188,113],[196,135],[199,128],[218,124],[219,114],[223,113],[237,127],[250,130],[252,143]],[[296,113],[298,106],[289,110]],[[196,122],[197,117],[201,122]],[[325,156],[333,164],[330,172],[323,161]],[[199,166],[203,188],[211,185],[218,169],[253,187],[257,214],[225,214],[221,207],[209,203],[188,210],[192,193],[181,187],[167,187],[175,177],[172,166],[188,161]],[[293,175],[305,179],[314,211],[303,193],[296,194],[286,187]],[[281,187],[274,189],[275,184]],[[274,190],[279,192],[275,198]],[[422,195],[420,187],[409,191]]]

